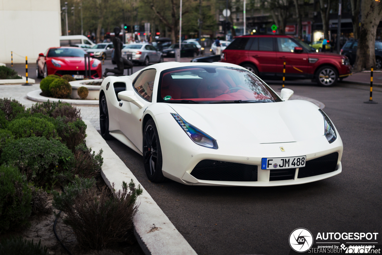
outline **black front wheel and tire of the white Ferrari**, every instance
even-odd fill
[[[147,178],[152,182],[163,182],[167,178],[162,173],[162,150],[157,127],[153,119],[147,121],[143,130],[143,164]]]

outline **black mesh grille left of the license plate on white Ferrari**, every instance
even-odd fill
[[[256,182],[257,166],[204,159],[197,163],[191,175],[199,180]]]

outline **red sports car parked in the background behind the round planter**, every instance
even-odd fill
[[[66,50],[67,49],[67,50]],[[57,54],[65,50],[66,52],[74,52],[77,56],[60,56],[65,54]],[[52,47],[40,53],[36,63],[37,77],[46,77],[47,75],[72,75],[76,79],[83,79],[85,75],[85,58],[86,51],[78,47]],[[87,67],[89,64],[87,63]],[[91,78],[99,79],[102,77],[102,62],[95,58],[90,58]],[[82,77],[82,78],[81,78]]]

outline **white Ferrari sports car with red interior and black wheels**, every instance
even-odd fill
[[[141,154],[152,182],[277,186],[339,174],[336,128],[292,95],[238,65],[158,63],[102,81],[101,135]]]

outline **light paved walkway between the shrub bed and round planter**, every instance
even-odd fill
[[[26,98],[29,91],[40,89],[40,84],[33,84],[32,86],[22,85],[0,85],[1,98],[8,97],[16,99],[26,108],[31,107],[37,102],[31,101]],[[81,116],[83,120],[89,120],[95,129],[99,130],[99,107],[98,106],[76,106],[81,109]]]

